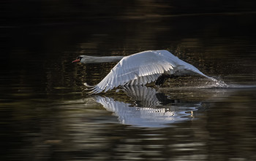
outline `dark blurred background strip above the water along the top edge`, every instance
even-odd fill
[[[181,14],[255,12],[252,0],[1,1],[1,20],[10,25],[85,23],[94,18],[140,18]]]

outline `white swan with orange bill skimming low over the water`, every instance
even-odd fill
[[[104,63],[117,62],[110,73],[99,84],[91,87],[91,93],[107,92],[118,86],[146,85],[155,82],[162,85],[167,78],[184,75],[201,75],[208,79],[216,79],[206,76],[195,66],[179,59],[167,50],[148,50],[129,56],[94,57],[79,55],[72,63]]]

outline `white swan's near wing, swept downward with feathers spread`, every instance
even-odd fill
[[[119,85],[146,85],[172,69],[173,64],[164,60],[157,52],[139,52],[121,59],[110,73],[92,88],[92,93],[100,93],[103,90],[106,92]]]

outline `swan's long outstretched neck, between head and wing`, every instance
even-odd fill
[[[94,57],[86,56],[85,60],[81,63],[108,63],[108,62],[118,62],[123,56],[105,56],[105,57]]]

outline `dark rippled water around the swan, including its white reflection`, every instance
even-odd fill
[[[256,160],[256,15],[1,28],[1,160]],[[185,77],[86,94],[115,63],[78,55],[169,50],[235,88]],[[252,85],[252,87],[248,87]]]

